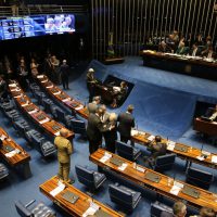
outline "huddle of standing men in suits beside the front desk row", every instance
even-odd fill
[[[88,104],[88,111],[87,137],[90,154],[102,145],[103,138],[105,149],[115,153],[117,131],[119,132],[120,141],[128,142],[130,140],[131,128],[135,127],[133,105],[129,105],[127,111],[119,115],[110,114],[106,112],[106,106],[100,104],[100,97],[94,97],[93,101]]]

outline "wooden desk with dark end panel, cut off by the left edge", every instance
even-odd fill
[[[30,155],[0,127],[0,139],[2,140],[2,148],[0,148],[1,157],[8,162],[12,167],[21,167],[22,174],[25,178],[31,176],[29,161]],[[7,146],[13,148],[13,151],[5,150]]]

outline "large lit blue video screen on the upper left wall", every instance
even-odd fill
[[[51,14],[0,20],[0,40],[74,31],[74,14]]]

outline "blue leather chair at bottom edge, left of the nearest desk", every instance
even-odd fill
[[[30,207],[36,200],[30,201],[24,205],[21,201],[15,202],[15,207],[20,216],[22,217],[54,217],[56,214],[46,206],[43,203],[39,203],[34,207]]]

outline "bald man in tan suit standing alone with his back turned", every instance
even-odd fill
[[[59,177],[63,181],[72,183],[69,179],[71,170],[71,155],[73,153],[73,145],[67,138],[68,131],[64,128],[61,129],[60,136],[55,137],[54,144],[58,149],[59,161]]]

